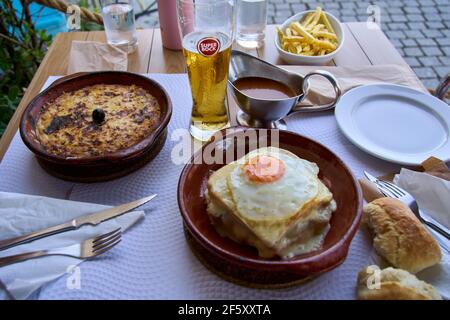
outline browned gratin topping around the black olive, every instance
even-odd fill
[[[105,120],[93,121],[102,109]],[[66,92],[41,110],[36,135],[44,149],[66,158],[101,156],[148,136],[161,118],[155,97],[141,87],[98,84]]]

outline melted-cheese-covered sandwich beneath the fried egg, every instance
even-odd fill
[[[263,151],[263,149],[259,150]],[[275,151],[274,148],[272,150]],[[278,152],[280,158],[281,154],[284,154],[302,160],[286,150],[279,149]],[[336,210],[333,194],[318,177],[317,165],[306,166],[304,170],[290,171],[286,159],[284,163],[286,164],[284,177],[301,176],[317,185],[312,198],[296,205],[293,214],[280,214],[284,210],[283,204],[301,198],[305,188],[309,189],[308,183],[302,183],[295,192],[292,192],[295,189],[293,187],[283,192],[280,190],[272,190],[272,193],[266,194],[255,192],[257,196],[254,201],[255,206],[249,207],[246,214],[242,214],[238,202],[233,197],[236,188],[232,190],[228,183],[233,173],[240,169],[239,160],[215,171],[208,179],[205,192],[207,213],[218,233],[236,242],[255,247],[259,256],[263,258],[278,256],[289,259],[299,254],[319,250],[330,229],[332,213]],[[271,182],[270,185],[276,183],[276,181]],[[260,187],[260,183],[254,186],[254,188]],[[249,189],[248,186],[246,188]],[[243,188],[240,191],[243,191]],[[251,197],[252,194],[247,193],[240,199],[245,202],[250,201]],[[260,219],[261,214],[264,213],[262,210],[270,206],[274,207],[271,210],[273,214],[265,214],[264,219]]]

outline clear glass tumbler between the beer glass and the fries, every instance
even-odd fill
[[[244,48],[260,47],[267,23],[267,0],[237,0],[236,5],[236,42]]]

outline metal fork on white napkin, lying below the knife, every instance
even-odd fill
[[[77,243],[71,246],[57,249],[26,252],[16,254],[13,256],[2,257],[0,258],[0,267],[20,261],[25,261],[28,259],[49,255],[63,255],[80,259],[93,258],[98,256],[99,254],[108,251],[116,244],[118,244],[121,240],[121,235],[122,235],[121,228],[118,228],[111,232],[102,234],[100,236],[85,240],[81,243]]]

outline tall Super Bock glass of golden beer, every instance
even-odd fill
[[[226,90],[234,0],[177,0],[177,12],[193,99],[189,130],[207,141],[230,125]]]

